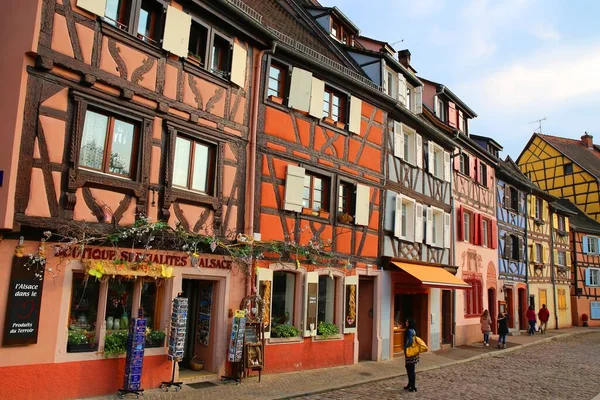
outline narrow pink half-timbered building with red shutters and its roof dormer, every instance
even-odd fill
[[[498,286],[496,224],[497,158],[469,137],[469,119],[477,115],[446,86],[421,78],[424,117],[454,137],[451,155],[453,222],[452,264],[471,287],[456,292],[456,345],[481,338],[479,317],[488,309],[495,320]]]

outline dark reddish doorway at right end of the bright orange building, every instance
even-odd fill
[[[375,279],[360,278],[358,282],[358,359],[373,359],[373,297]]]

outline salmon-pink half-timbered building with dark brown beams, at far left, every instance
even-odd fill
[[[217,238],[242,231],[250,78],[256,51],[267,47],[260,38],[271,37],[259,15],[235,2],[8,3],[19,17],[5,15],[15,34],[2,40],[19,61],[2,76],[14,90],[2,111],[12,113],[3,119],[12,125],[3,129],[8,145],[0,157],[1,320],[13,250],[35,254],[42,231],[94,235],[131,227],[140,216]],[[115,392],[122,356],[102,352],[126,329],[118,321],[143,309],[149,329],[167,331],[180,292],[191,307],[182,369],[199,356],[209,375],[225,373],[228,310],[246,294],[243,274],[210,252],[156,248],[147,254],[163,267],[158,279],[144,271],[127,279],[119,271],[139,261],[137,245],[129,246],[120,254],[112,246],[47,251],[39,332],[36,326],[27,346],[0,349],[1,375],[10,377],[4,397]],[[102,279],[86,279],[91,269]],[[0,333],[4,345],[22,343],[11,336],[17,333]],[[83,340],[82,351],[76,342]],[[143,387],[171,377],[164,339],[157,344],[146,350]],[[57,376],[69,379],[57,385]]]

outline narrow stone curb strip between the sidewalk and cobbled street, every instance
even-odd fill
[[[556,335],[556,336],[552,336],[549,338],[544,338],[544,339],[540,339],[536,342],[531,342],[531,343],[524,343],[524,344],[520,344],[514,347],[510,347],[507,349],[503,349],[502,351],[493,351],[493,352],[489,352],[489,353],[483,353],[483,354],[478,354],[476,356],[473,357],[469,357],[469,358],[465,358],[462,360],[453,360],[447,363],[443,363],[440,365],[432,365],[429,367],[425,367],[423,369],[420,369],[419,371],[417,371],[417,373],[421,373],[421,372],[427,372],[427,371],[433,371],[436,369],[441,369],[441,368],[446,368],[446,367],[450,367],[452,365],[458,365],[458,364],[464,364],[464,363],[468,363],[471,361],[477,361],[477,360],[481,360],[484,358],[489,358],[489,357],[502,357],[507,353],[513,353],[515,351],[518,350],[522,350],[524,348],[527,347],[531,347],[531,346],[537,346],[539,344],[544,344],[544,343],[549,343],[555,340],[560,340],[560,339],[566,339],[568,337],[577,337],[577,336],[583,336],[583,335],[587,335],[587,334],[591,334],[591,333],[595,333],[598,332],[597,330],[589,330],[589,331],[583,331],[583,332],[569,332],[569,333],[562,333],[560,335]],[[343,384],[343,385],[339,385],[339,386],[332,386],[329,387],[327,389],[320,389],[320,390],[315,390],[315,391],[302,391],[302,392],[297,392],[297,393],[293,393],[293,394],[288,394],[286,396],[283,397],[272,397],[271,400],[286,400],[286,399],[294,399],[297,397],[304,397],[304,396],[311,396],[311,395],[315,395],[315,394],[323,394],[323,393],[328,393],[328,392],[334,392],[337,390],[342,390],[342,389],[347,389],[347,388],[352,388],[352,387],[356,387],[356,386],[362,386],[365,384],[369,384],[369,383],[376,383],[376,382],[381,382],[381,381],[385,381],[385,380],[389,380],[389,379],[393,379],[393,378],[398,378],[401,376],[405,376],[406,372],[398,372],[395,374],[391,374],[388,376],[382,376],[382,377],[377,377],[377,378],[373,378],[373,379],[367,379],[364,381],[361,381],[360,383],[354,383],[354,384]],[[598,394],[598,396],[594,397],[592,400],[600,400],[600,394]]]

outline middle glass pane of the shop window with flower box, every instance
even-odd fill
[[[133,281],[118,281],[111,279],[108,283],[106,297],[106,331],[126,330],[131,318],[131,304],[133,301]],[[109,328],[112,322],[112,329]]]

